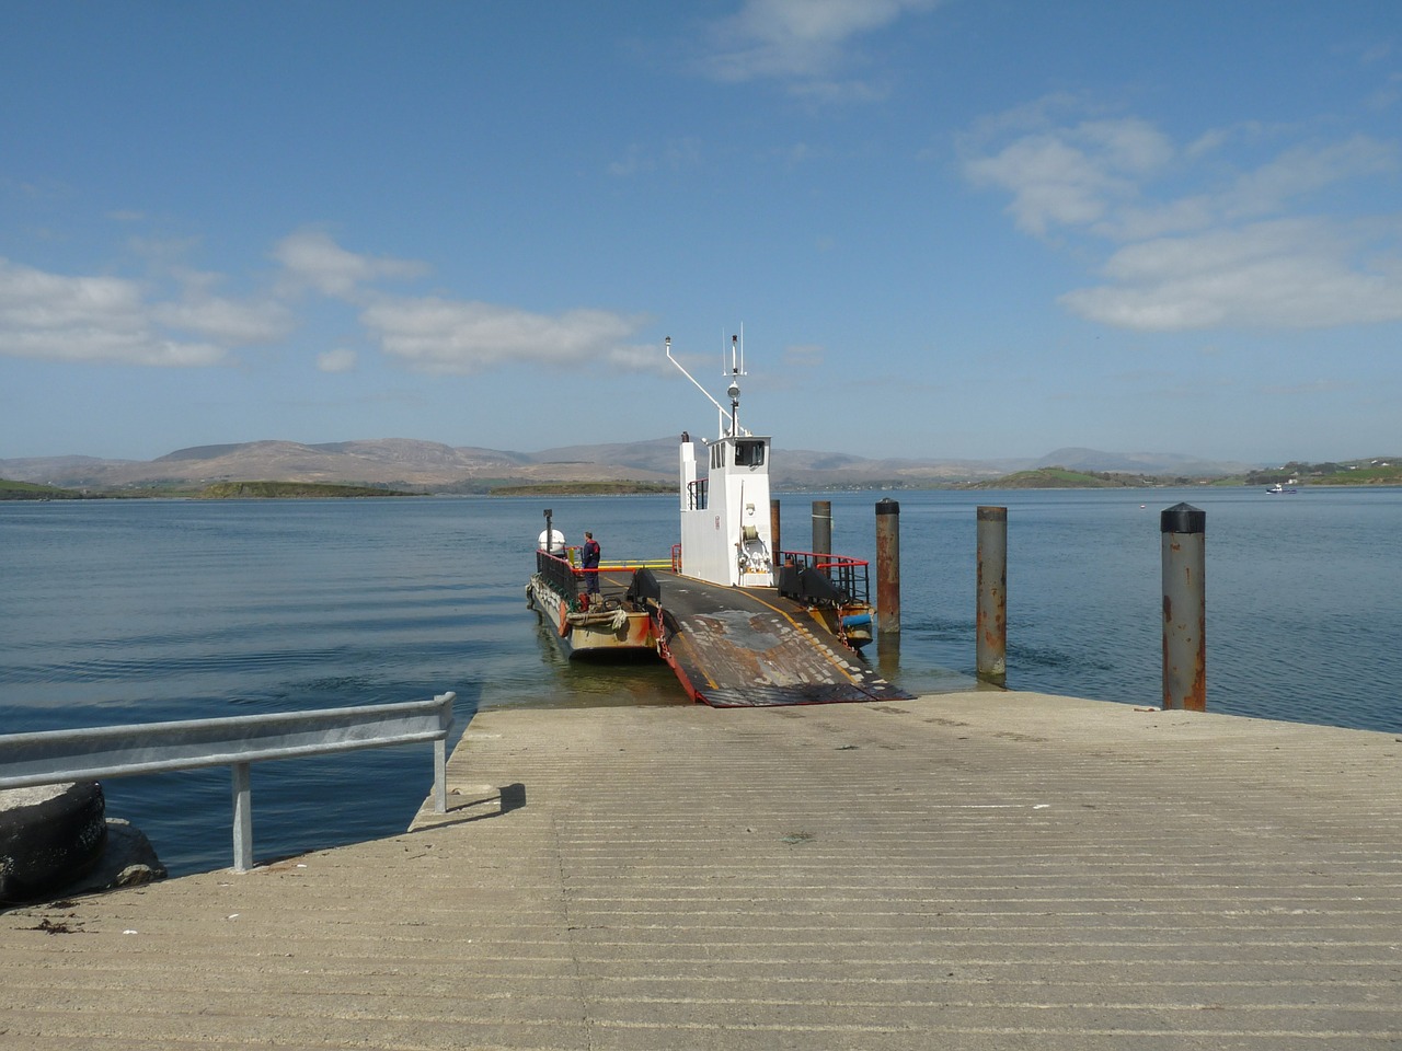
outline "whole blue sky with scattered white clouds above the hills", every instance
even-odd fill
[[[1396,0],[8,0],[0,458],[1402,455]]]

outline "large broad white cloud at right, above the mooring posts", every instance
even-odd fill
[[[970,182],[1011,196],[1019,230],[1110,242],[1105,283],[1061,297],[1073,312],[1140,331],[1402,320],[1402,216],[1356,220],[1345,193],[1396,171],[1396,143],[1294,143],[1234,170],[1242,136],[1259,149],[1290,129],[1204,132],[1180,150],[1136,118],[1057,125],[1068,104],[984,121],[960,150]]]

